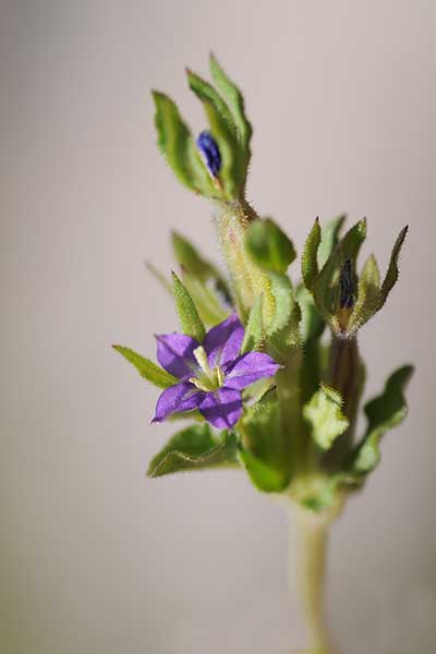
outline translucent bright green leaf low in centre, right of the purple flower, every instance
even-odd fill
[[[280,493],[290,481],[277,391],[269,388],[238,423],[238,456],[252,483],[265,493]]]

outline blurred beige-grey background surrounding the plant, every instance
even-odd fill
[[[434,2],[1,3],[1,583],[5,654],[284,654],[284,516],[243,474],[144,479],[171,433],[111,351],[174,328],[143,261],[216,244],[157,153],[149,88],[205,126],[183,66],[211,48],[255,125],[250,196],[301,251],[366,215],[400,284],[362,332],[368,393],[415,362],[410,417],[331,541],[342,654],[436,647]]]

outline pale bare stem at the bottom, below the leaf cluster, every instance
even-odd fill
[[[334,654],[324,609],[324,586],[330,517],[298,508],[300,591],[311,638],[311,654]],[[294,522],[292,521],[292,526]],[[290,552],[290,556],[293,552]]]

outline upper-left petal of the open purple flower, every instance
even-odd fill
[[[196,370],[194,350],[198,347],[195,338],[185,334],[161,334],[157,339],[157,360],[171,375],[183,379],[192,377]]]

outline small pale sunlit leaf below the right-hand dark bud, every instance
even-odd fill
[[[312,426],[312,436],[324,450],[328,450],[349,426],[342,405],[340,393],[322,383],[319,390],[303,408],[303,416]]]

